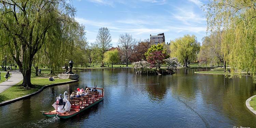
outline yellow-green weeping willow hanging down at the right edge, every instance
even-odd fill
[[[214,0],[206,6],[208,30],[224,32],[222,51],[231,73],[250,73],[256,82],[255,1]]]

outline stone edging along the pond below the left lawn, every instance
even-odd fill
[[[57,86],[57,85],[63,85],[63,84],[70,84],[70,83],[75,83],[75,82],[79,82],[79,79],[78,80],[74,80],[74,81],[69,81],[69,82],[62,82],[62,83],[45,85],[45,86],[41,87],[39,90],[37,90],[37,91],[35,91],[35,92],[31,93],[31,94],[28,94],[28,95],[25,95],[25,96],[22,96],[22,97],[17,97],[15,99],[3,101],[3,102],[0,103],[0,106],[4,106],[4,105],[10,104],[10,103],[14,103],[14,102],[19,101],[19,100],[23,100],[23,99],[29,98],[31,96],[34,96],[36,94],[41,93],[41,91],[43,91],[45,88],[48,88],[48,87]]]

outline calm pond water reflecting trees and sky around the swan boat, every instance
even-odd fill
[[[134,69],[88,69],[80,81],[44,89],[29,99],[0,107],[0,128],[8,127],[256,127],[245,100],[256,95],[250,76],[195,74],[137,75]],[[70,119],[44,117],[68,88],[104,88],[104,100]],[[17,94],[18,95],[18,94]]]

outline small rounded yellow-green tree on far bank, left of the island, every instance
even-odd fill
[[[105,63],[119,63],[120,62],[120,56],[117,49],[107,51],[104,53],[104,62]]]

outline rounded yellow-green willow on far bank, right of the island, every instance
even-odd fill
[[[184,37],[177,38],[170,44],[171,57],[178,57],[180,62],[188,67],[188,61],[196,60],[199,52],[200,44],[197,42],[195,35],[184,35]]]

